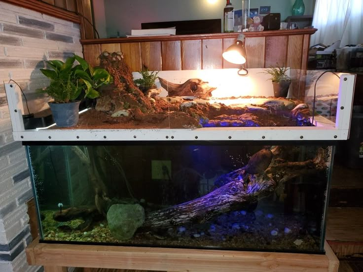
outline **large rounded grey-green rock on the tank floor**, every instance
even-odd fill
[[[114,204],[107,212],[112,236],[119,240],[131,239],[145,222],[145,210],[139,204]]]

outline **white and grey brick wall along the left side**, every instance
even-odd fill
[[[42,270],[26,263],[31,242],[25,202],[32,198],[25,148],[14,142],[2,82],[15,80],[30,111],[47,107],[36,89],[47,84],[45,60],[82,55],[79,26],[0,1],[0,272]],[[18,87],[17,87],[18,88]]]

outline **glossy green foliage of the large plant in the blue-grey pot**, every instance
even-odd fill
[[[77,61],[78,65],[74,65]],[[97,98],[97,91],[102,85],[112,82],[109,72],[102,68],[93,68],[84,59],[74,55],[66,62],[47,61],[51,69],[40,69],[50,79],[48,87],[40,89],[54,99],[55,103],[68,103],[76,100],[84,91],[84,98]]]

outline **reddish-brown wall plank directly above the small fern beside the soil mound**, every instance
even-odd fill
[[[141,42],[141,65],[149,71],[160,71],[161,68],[161,42]]]

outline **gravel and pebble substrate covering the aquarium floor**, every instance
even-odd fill
[[[182,232],[180,232],[179,227],[175,227],[162,232],[137,233],[131,240],[122,242],[112,237],[106,220],[96,222],[93,229],[87,232],[74,230],[78,224],[82,223],[82,220],[72,220],[64,223],[64,225],[69,225],[73,231],[64,232],[57,228],[59,222],[52,219],[53,211],[44,211],[43,214],[45,215],[45,219],[42,221],[44,239],[49,241],[141,244],[169,247],[319,251],[316,243],[318,237],[302,230],[301,218],[296,215],[285,215],[284,217],[275,215],[273,218],[268,218],[265,214],[256,215],[247,224],[240,223],[241,226],[238,229],[232,228],[233,222],[242,222],[241,218],[246,215],[234,212],[230,213],[230,215],[218,217],[218,219],[214,220],[213,224],[185,225],[185,230]],[[227,218],[223,218],[223,216]],[[237,221],[233,221],[233,217]],[[229,223],[218,223],[218,220]],[[212,231],[211,225],[214,226],[214,231]],[[284,233],[285,227],[289,227],[291,230],[289,234]],[[272,230],[276,230],[278,234],[276,236],[271,235]],[[302,240],[301,245],[294,243],[298,239]]]

